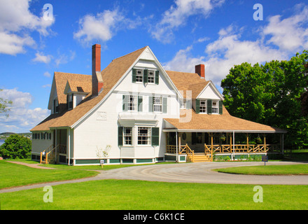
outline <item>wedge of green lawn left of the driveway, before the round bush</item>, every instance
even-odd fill
[[[0,171],[0,189],[97,175],[97,172],[86,170],[35,169],[5,160],[0,160]]]

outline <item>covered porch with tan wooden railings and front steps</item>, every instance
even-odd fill
[[[163,130],[166,155],[186,155],[189,162],[230,160],[251,155],[283,155],[283,133],[276,132],[207,132],[207,130]]]

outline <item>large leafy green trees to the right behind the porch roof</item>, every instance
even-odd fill
[[[308,51],[288,61],[235,65],[221,82],[226,109],[288,131],[286,145],[308,146]]]

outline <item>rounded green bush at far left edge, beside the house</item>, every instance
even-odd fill
[[[18,134],[11,134],[0,146],[0,156],[10,159],[26,159],[31,155],[31,140]]]

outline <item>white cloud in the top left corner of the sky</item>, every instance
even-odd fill
[[[0,53],[16,55],[25,52],[25,46],[34,46],[31,31],[38,31],[41,36],[50,34],[49,27],[55,20],[43,20],[32,14],[29,1],[0,1]]]

